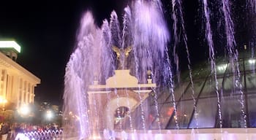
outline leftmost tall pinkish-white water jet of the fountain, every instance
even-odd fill
[[[88,95],[86,90],[100,73],[100,52],[99,36],[100,30],[94,26],[94,19],[90,12],[81,19],[80,31],[76,50],[72,53],[69,63],[67,63],[65,74],[64,93],[64,115],[74,115],[78,122],[69,121],[70,126],[79,128],[80,138],[89,136],[91,130],[86,131],[92,124],[89,120]],[[90,58],[88,57],[90,55]],[[86,71],[86,72],[85,72]],[[85,80],[86,79],[86,80]],[[93,110],[92,110],[93,112]],[[97,113],[97,112],[94,112]],[[74,117],[72,116],[72,117]],[[72,129],[72,128],[70,128]],[[71,132],[68,130],[67,132]],[[70,134],[70,133],[68,133]],[[70,134],[72,135],[72,134]],[[76,134],[75,134],[76,135]]]

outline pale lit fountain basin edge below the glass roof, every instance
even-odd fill
[[[118,131],[115,135],[117,139],[135,140],[255,140],[256,128],[207,128],[185,130]]]

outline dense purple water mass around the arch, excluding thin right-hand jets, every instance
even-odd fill
[[[170,84],[173,77],[167,55],[169,37],[160,1],[135,1],[132,8],[124,9],[122,25],[115,11],[110,14],[109,23],[108,20],[103,20],[101,28],[94,24],[91,12],[86,12],[80,22],[75,51],[70,56],[66,68],[64,133],[67,135],[65,136],[70,134],[79,139],[96,139],[99,133],[103,134],[100,128],[105,125],[101,117],[103,112],[99,112],[96,106],[101,104],[99,103],[101,96],[89,98],[89,85],[94,85],[95,82],[104,85],[106,79],[112,77],[116,69],[130,69],[130,74],[137,77],[139,83],[147,83],[147,72],[150,70],[154,83],[173,88]],[[113,47],[116,51],[131,47],[129,56],[126,57],[122,53],[117,60],[118,54],[113,51]],[[117,89],[113,91],[118,98]],[[110,93],[106,94],[107,100],[110,100]],[[129,96],[128,93],[126,95]],[[138,116],[141,117],[142,128],[146,131],[145,113],[150,109],[147,109],[147,112],[144,110],[143,97],[140,96],[140,92],[138,95],[140,98]],[[117,101],[116,106],[120,104],[121,102]],[[154,109],[159,114],[157,104]],[[120,117],[120,114],[118,115]],[[137,119],[129,116],[131,130],[132,120]],[[77,133],[74,134],[74,131]],[[105,136],[110,135],[108,131],[104,133]]]

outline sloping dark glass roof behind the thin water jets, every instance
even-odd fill
[[[256,58],[238,60],[236,72],[237,65],[226,59],[216,62],[217,83],[207,63],[198,65],[192,71],[194,88],[188,74],[181,75],[175,100],[168,88],[156,90],[131,113],[139,119],[126,123],[135,129],[219,128],[220,124],[222,128],[256,127]]]

